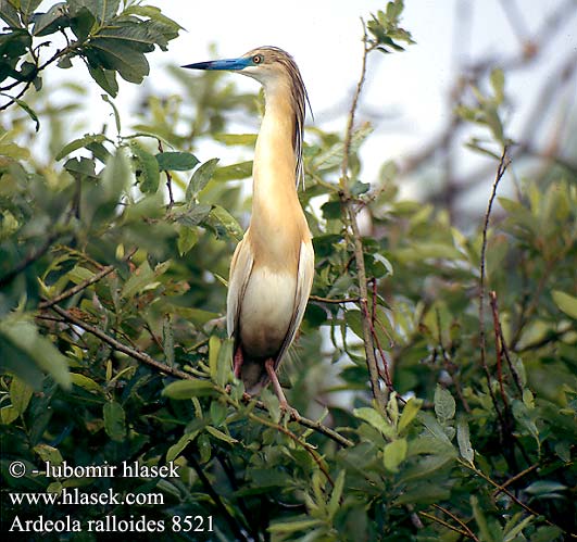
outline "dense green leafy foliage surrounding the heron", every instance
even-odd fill
[[[442,209],[400,199],[392,162],[363,178],[368,125],[310,130],[300,197],[316,275],[281,371],[308,417],[289,419],[268,390],[242,401],[221,318],[249,210],[239,180],[252,164],[203,155],[210,139],[251,156],[255,136],[229,134],[227,119],[239,110],[256,118],[261,100],[222,75],[175,70],[175,94],[148,97],[126,128],[112,101],[116,74],[140,83],[146,54],[179,26],[134,2],[67,0],[36,13],[38,4],[0,4],[3,530],[41,515],[83,527],[46,540],[102,540],[87,526],[106,517],[164,522],[149,532],[156,540],[575,535],[575,171],[526,175],[516,198],[498,197],[499,219],[488,213],[465,234]],[[367,54],[411,42],[401,12],[397,1],[373,16]],[[43,70],[72,63],[106,92],[114,119],[73,140],[62,126],[80,106],[40,91]],[[474,146],[494,155],[494,192],[512,144],[503,73],[472,96],[457,112],[491,138]],[[43,143],[32,153],[35,130]],[[371,224],[362,237],[361,212]],[[13,476],[13,462],[25,476]],[[46,462],[174,462],[179,476],[45,476]],[[11,500],[74,489],[154,493],[163,504]],[[185,532],[196,516],[212,516],[203,528],[213,530]]]

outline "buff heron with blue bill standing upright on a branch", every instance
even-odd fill
[[[277,370],[302,323],[314,277],[312,236],[298,198],[304,185],[302,146],[309,97],[294,60],[277,47],[183,67],[223,70],[264,89],[252,166],[250,224],[230,263],[226,322],[233,370],[254,395],[269,382],[292,415]]]

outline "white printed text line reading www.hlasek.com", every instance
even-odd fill
[[[78,488],[72,490],[63,488],[58,493],[10,493],[14,505],[86,505],[86,504],[137,504],[140,506],[154,506],[164,504],[162,493],[126,493],[122,495],[111,489],[101,493],[86,493]]]

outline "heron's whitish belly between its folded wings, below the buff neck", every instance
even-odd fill
[[[249,357],[274,356],[294,313],[297,277],[254,267],[240,306],[240,340]]]

